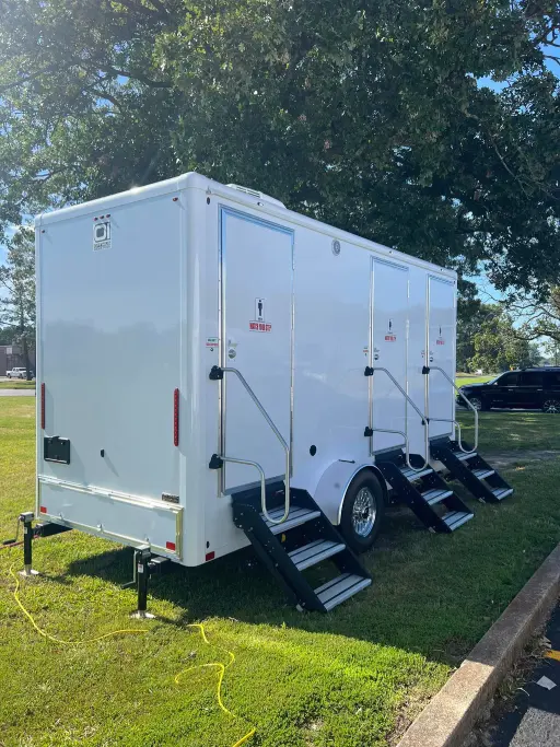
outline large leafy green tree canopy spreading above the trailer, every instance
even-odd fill
[[[0,0],[0,225],[197,170],[463,272],[487,262],[499,288],[560,280],[556,1]]]

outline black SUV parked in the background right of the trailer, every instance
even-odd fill
[[[477,410],[533,408],[560,412],[560,367],[506,371],[485,384],[466,384],[460,392]],[[465,405],[457,397],[457,405]]]

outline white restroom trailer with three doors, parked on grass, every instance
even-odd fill
[[[271,536],[298,495],[336,526],[384,454],[454,439],[452,270],[195,173],[45,213],[36,250],[44,522],[199,565],[253,541],[261,478]],[[304,540],[299,571],[341,544]]]

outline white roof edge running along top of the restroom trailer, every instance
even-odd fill
[[[122,205],[137,202],[138,200],[144,200],[150,197],[180,191],[183,189],[201,189],[208,194],[220,195],[229,200],[238,202],[242,206],[252,208],[253,210],[262,211],[267,215],[275,215],[282,221],[288,220],[291,223],[307,226],[314,231],[317,231],[318,233],[326,234],[331,238],[338,238],[341,242],[361,246],[370,252],[375,250],[376,253],[386,255],[393,259],[400,259],[404,262],[423,267],[453,280],[456,280],[457,278],[455,270],[425,261],[424,259],[420,259],[413,255],[405,254],[398,249],[392,249],[388,246],[377,244],[376,242],[370,241],[368,238],[362,238],[361,236],[349,233],[348,231],[342,231],[341,229],[337,229],[336,226],[329,225],[327,223],[323,223],[314,218],[302,215],[299,212],[294,212],[293,210],[289,210],[288,208],[283,207],[280,200],[269,197],[268,195],[264,195],[262,192],[257,192],[257,190],[238,187],[237,185],[226,186],[202,176],[201,174],[197,174],[196,172],[188,172],[171,179],[165,179],[164,182],[156,182],[142,187],[132,187],[127,191],[102,197],[97,200],[90,200],[89,202],[82,202],[81,205],[73,205],[68,208],[61,208],[60,210],[42,213],[35,218],[35,226],[38,227],[47,225],[49,223],[74,218],[80,214],[100,211],[106,212]]]

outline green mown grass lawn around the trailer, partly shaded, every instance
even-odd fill
[[[483,413],[485,443],[558,447],[552,419]],[[33,400],[0,400],[1,537],[33,507]],[[250,747],[394,745],[560,540],[560,460],[521,465],[506,478],[516,495],[472,502],[476,517],[456,535],[432,535],[409,511],[392,510],[364,558],[373,585],[327,616],[287,606],[247,550],[153,583],[158,619],[130,620],[136,594],[119,587],[131,575],[130,551],[67,533],[34,546],[45,575],[24,582],[21,595],[37,622],[72,640],[148,632],[61,645],[38,637],[14,603],[8,571],[21,567],[21,548],[0,551],[0,744],[231,747],[254,724]],[[186,628],[199,620],[210,646]],[[240,720],[218,708],[215,669],[174,682],[192,664],[226,663],[224,649],[235,654],[224,702]]]

